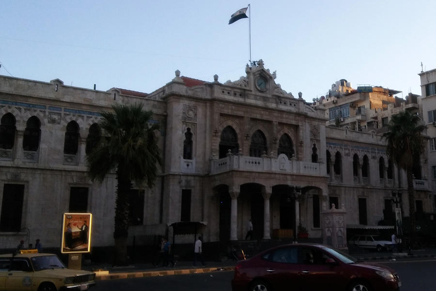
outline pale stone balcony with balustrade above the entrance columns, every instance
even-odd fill
[[[279,157],[248,157],[229,155],[226,158],[211,160],[210,175],[217,175],[228,171],[274,172],[283,174],[320,176],[325,175],[321,170],[323,163],[302,162],[289,160],[284,154]]]

